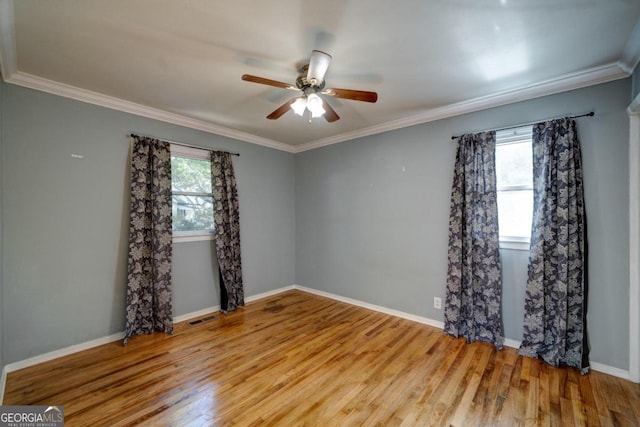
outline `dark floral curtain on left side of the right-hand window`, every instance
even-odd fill
[[[500,349],[502,277],[498,241],[494,131],[458,139],[444,331]]]

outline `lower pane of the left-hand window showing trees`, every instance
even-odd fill
[[[213,197],[173,195],[173,231],[213,231]]]

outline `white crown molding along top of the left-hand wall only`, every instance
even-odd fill
[[[224,126],[215,125],[204,120],[198,120],[186,117],[180,114],[170,113],[158,108],[148,107],[146,105],[137,104],[131,101],[125,101],[120,98],[107,96],[101,93],[92,92],[86,89],[80,89],[64,83],[53,80],[44,79],[38,76],[23,72],[15,72],[8,78],[7,83],[23,86],[29,89],[35,89],[42,92],[59,95],[65,98],[75,99],[76,101],[86,102],[137,116],[147,117],[149,119],[159,120],[178,126],[184,126],[191,129],[201,130],[203,132],[213,133],[216,135],[226,136],[240,141],[250,142],[252,144],[262,145],[276,150],[282,150],[292,153],[293,149],[288,144],[283,144],[268,138],[263,138],[246,132]]]

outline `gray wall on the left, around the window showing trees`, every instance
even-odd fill
[[[124,329],[132,131],[240,152],[245,294],[294,283],[293,154],[15,85],[2,98],[4,363]],[[219,304],[213,258],[174,245],[174,315]]]

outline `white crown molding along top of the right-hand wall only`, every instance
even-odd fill
[[[583,87],[606,83],[627,77],[629,77],[629,73],[623,69],[620,63],[608,64],[583,72],[569,74],[564,77],[547,80],[534,85],[523,86],[508,91],[499,92],[490,96],[484,96],[468,101],[458,102],[441,108],[433,108],[431,110],[425,111],[422,114],[414,115],[411,117],[392,120],[386,123],[381,123],[379,125],[370,126],[368,128],[358,129],[353,132],[347,132],[329,138],[319,139],[296,146],[295,153],[301,153],[303,151],[313,150],[351,139],[362,138],[377,133],[388,132],[391,130],[433,122],[436,120],[472,113],[474,111],[486,110],[489,108],[499,107],[501,105],[540,98],[542,96],[580,89]]]

